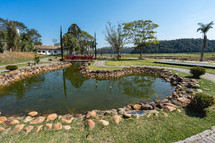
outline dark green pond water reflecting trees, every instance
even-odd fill
[[[0,112],[23,115],[83,113],[164,99],[174,87],[148,75],[97,80],[82,77],[77,66],[32,76],[0,89]]]

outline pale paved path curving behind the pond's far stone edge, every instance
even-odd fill
[[[94,66],[97,67],[130,67],[130,66],[107,66],[105,64],[106,61],[96,61],[94,63]],[[171,70],[177,70],[180,72],[184,72],[184,73],[190,73],[189,69],[183,69],[183,68],[175,68],[175,67],[162,67],[162,66],[132,66],[132,67],[156,67],[156,68],[164,68],[164,69],[171,69]],[[211,73],[206,73],[205,75],[201,76],[202,78],[205,78],[207,80],[210,80],[212,82],[215,82],[215,74],[211,74]]]

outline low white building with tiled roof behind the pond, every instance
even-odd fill
[[[61,48],[60,46],[49,46],[49,45],[36,45],[37,53],[43,54],[43,55],[60,55],[61,54]],[[67,53],[68,51],[64,49],[64,53]]]

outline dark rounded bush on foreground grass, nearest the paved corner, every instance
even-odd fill
[[[188,107],[197,113],[204,113],[206,108],[214,104],[215,100],[213,96],[209,96],[204,93],[197,93],[196,95],[192,96]]]

